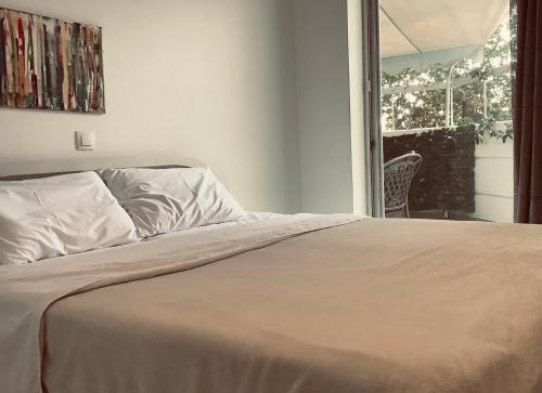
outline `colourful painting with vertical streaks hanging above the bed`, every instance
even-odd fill
[[[0,106],[104,113],[102,29],[0,8]]]

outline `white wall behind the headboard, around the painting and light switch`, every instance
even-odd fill
[[[300,208],[291,0],[0,5],[102,26],[107,110],[96,116],[0,109],[0,161],[178,153],[225,173],[248,210]],[[343,41],[345,32],[337,38]],[[339,81],[341,91],[345,82]],[[346,108],[346,95],[340,99],[336,105]],[[326,127],[335,128],[335,120]],[[98,150],[76,152],[75,130],[95,131]],[[344,149],[337,146],[335,154]]]

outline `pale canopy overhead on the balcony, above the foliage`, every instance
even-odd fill
[[[509,0],[382,0],[383,70],[397,74],[472,58],[508,9]]]

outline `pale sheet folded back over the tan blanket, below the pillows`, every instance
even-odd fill
[[[28,266],[0,266],[0,393],[41,392],[40,371],[47,366],[40,362],[44,353],[42,315],[63,297],[195,268],[293,236],[358,220],[359,217],[346,214],[282,215],[253,224],[179,233]],[[55,391],[79,392],[64,388],[50,393]]]

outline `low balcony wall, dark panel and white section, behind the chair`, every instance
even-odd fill
[[[385,131],[383,143],[385,160],[412,150],[423,157],[410,188],[412,218],[513,222],[512,140],[478,141],[475,126],[461,126]]]

